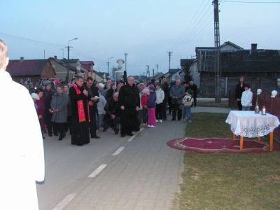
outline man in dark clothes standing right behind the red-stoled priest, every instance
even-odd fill
[[[84,84],[85,90],[88,92],[87,98],[89,99],[90,106],[90,137],[94,139],[99,139],[97,137],[97,102],[99,94],[98,88],[93,85],[94,80],[92,77],[87,78],[87,83]],[[95,97],[95,98],[94,98]]]

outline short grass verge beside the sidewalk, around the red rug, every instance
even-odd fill
[[[195,113],[188,137],[231,137],[227,115]],[[275,143],[274,143],[275,144]],[[279,209],[280,153],[186,152],[174,209]]]

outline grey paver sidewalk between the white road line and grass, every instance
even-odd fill
[[[179,190],[183,151],[167,141],[183,137],[185,123],[165,121],[146,128],[104,162],[80,192],[73,192],[64,209],[170,209]],[[94,173],[93,173],[94,174]]]

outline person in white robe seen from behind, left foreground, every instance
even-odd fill
[[[0,209],[36,210],[35,181],[45,179],[41,128],[29,91],[12,80],[7,65],[7,46],[0,40]]]

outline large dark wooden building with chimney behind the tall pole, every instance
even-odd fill
[[[214,97],[215,48],[196,48],[196,65],[200,73],[200,94]],[[235,90],[240,76],[251,85],[253,91],[261,88],[270,92],[279,88],[280,50],[259,50],[252,44],[250,50],[225,42],[221,45],[221,93],[228,97],[230,90]]]

